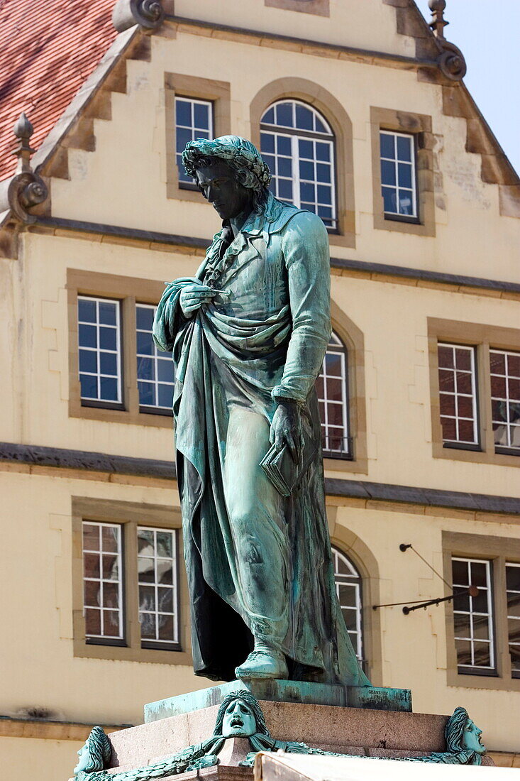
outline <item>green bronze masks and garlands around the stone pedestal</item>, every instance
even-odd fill
[[[465,708],[456,708],[447,720],[444,736],[447,751],[428,754],[426,757],[403,757],[401,761],[436,762],[444,765],[481,765],[486,747],[480,740],[481,730],[475,726]],[[75,781],[151,781],[180,773],[200,770],[218,765],[218,754],[226,740],[233,737],[248,737],[251,751],[243,767],[255,764],[259,751],[284,751],[287,754],[319,754],[327,757],[349,757],[349,754],[335,754],[322,751],[305,743],[284,742],[273,738],[265,725],[264,715],[255,696],[249,691],[239,690],[228,694],[220,705],[212,737],[203,743],[189,746],[178,754],[144,768],[124,772],[108,772],[112,748],[101,727],[94,727],[87,742],[78,755],[80,761],[74,769]],[[356,757],[359,758],[359,757]],[[369,759],[369,757],[364,757]],[[383,759],[383,757],[379,757]]]

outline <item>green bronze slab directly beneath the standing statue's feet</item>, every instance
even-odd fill
[[[308,681],[261,680],[231,681],[221,686],[166,697],[144,706],[144,721],[156,722],[181,713],[219,705],[232,691],[248,690],[258,700],[301,702],[310,705],[337,705],[343,708],[372,708],[378,711],[411,712],[408,689],[384,689],[379,686],[330,686]]]

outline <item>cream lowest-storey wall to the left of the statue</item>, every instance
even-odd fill
[[[73,656],[71,497],[177,505],[176,491],[0,471],[4,557],[2,713],[37,705],[65,721],[133,724],[143,705],[204,688],[191,668]],[[129,685],[131,681],[131,685]]]

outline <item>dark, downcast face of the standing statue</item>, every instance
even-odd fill
[[[202,194],[221,219],[232,219],[246,209],[251,211],[251,190],[237,182],[226,162],[216,160],[211,166],[201,166],[196,174]]]

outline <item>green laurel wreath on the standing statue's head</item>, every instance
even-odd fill
[[[195,178],[195,171],[201,158],[217,157],[236,171],[248,169],[255,177],[255,189],[269,187],[271,181],[269,167],[262,160],[258,149],[251,144],[251,141],[245,141],[244,138],[238,136],[224,138],[233,138],[233,142],[224,141],[223,138],[215,138],[214,141],[209,141],[207,138],[188,141],[182,155],[187,175]]]

